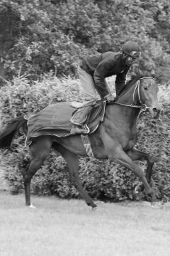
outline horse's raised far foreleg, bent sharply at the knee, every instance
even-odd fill
[[[151,176],[152,176],[152,168],[154,165],[154,162],[157,161],[156,159],[154,159],[153,157],[149,156],[149,154],[140,151],[139,149],[136,149],[135,147],[133,147],[132,149],[130,149],[127,152],[128,156],[130,156],[130,158],[135,161],[135,160],[146,160],[147,161],[147,170],[146,170],[146,178],[147,178],[147,182],[150,183],[151,181]],[[138,186],[136,188],[136,191],[143,191],[144,190],[144,186],[143,184]]]

